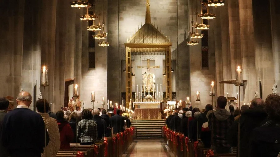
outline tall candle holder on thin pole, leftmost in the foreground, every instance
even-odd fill
[[[45,66],[41,69],[41,79],[40,79],[40,87],[44,87],[44,93],[46,87],[49,87],[49,81],[48,81],[48,69],[46,69]],[[46,99],[44,99],[44,111],[45,111],[45,117],[46,117]],[[45,123],[45,146],[47,145],[47,125]],[[45,151],[47,156],[47,150]]]

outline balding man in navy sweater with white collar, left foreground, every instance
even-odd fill
[[[3,120],[2,145],[10,157],[40,157],[45,147],[45,123],[40,114],[29,109],[31,94],[20,92],[17,108],[7,113]],[[47,144],[49,135],[47,135]]]

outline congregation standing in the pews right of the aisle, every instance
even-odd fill
[[[207,104],[202,111],[192,106],[175,110],[169,112],[166,125],[217,154],[230,154],[239,147],[240,157],[280,156],[279,94],[270,94],[265,101],[254,98],[250,105],[242,105],[240,109],[229,105],[228,111],[226,106],[227,98],[220,96],[215,109]]]

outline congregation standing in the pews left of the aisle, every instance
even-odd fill
[[[131,126],[120,109],[111,117],[105,109],[78,106],[62,107],[54,114],[49,102],[39,99],[34,112],[29,109],[32,96],[25,91],[16,101],[16,109],[7,112],[9,101],[0,97],[1,157],[54,157],[59,150],[69,150],[70,143],[92,145]]]

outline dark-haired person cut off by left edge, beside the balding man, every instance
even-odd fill
[[[4,116],[7,114],[9,108],[9,101],[5,97],[0,97],[0,135],[2,132],[2,123]],[[0,137],[0,156],[8,157],[8,152],[5,147],[2,146],[2,138]]]

